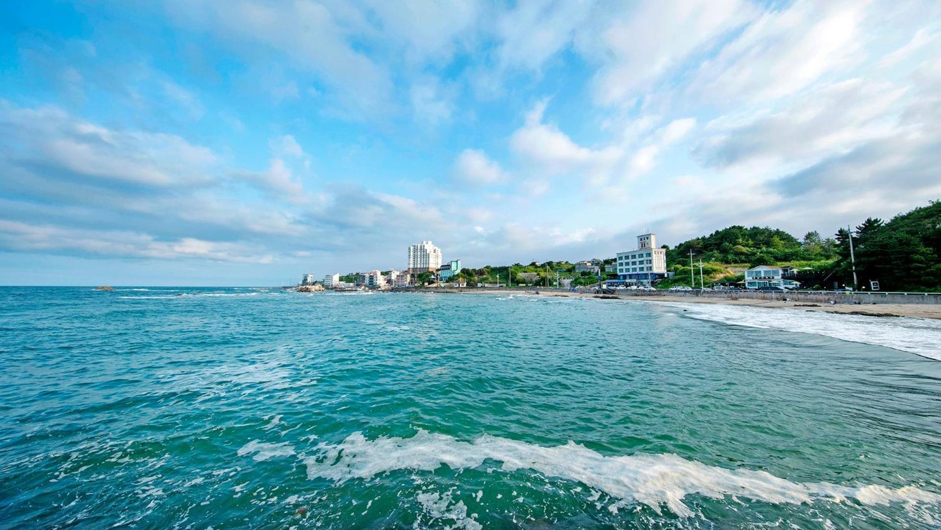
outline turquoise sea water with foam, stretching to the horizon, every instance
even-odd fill
[[[0,288],[0,527],[937,527],[939,333],[562,297]]]

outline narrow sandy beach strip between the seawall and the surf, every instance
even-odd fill
[[[423,291],[416,290],[415,293]],[[863,316],[883,316],[909,318],[931,318],[941,320],[941,304],[828,304],[800,301],[763,300],[755,298],[711,298],[711,297],[673,297],[673,296],[616,296],[597,295],[593,293],[572,293],[559,291],[518,291],[510,289],[428,289],[429,293],[455,294],[455,295],[523,295],[528,297],[570,297],[570,298],[598,298],[618,300],[641,300],[648,302],[691,303],[691,304],[725,304],[739,306],[753,306],[769,309],[785,309],[790,311],[810,311],[819,313],[856,314]]]

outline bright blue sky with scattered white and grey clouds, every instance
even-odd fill
[[[941,2],[0,6],[0,284],[824,236],[941,199]]]

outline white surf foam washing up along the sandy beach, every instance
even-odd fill
[[[725,304],[656,303],[686,310],[700,320],[751,328],[824,335],[843,341],[882,345],[941,361],[941,320],[874,317]]]

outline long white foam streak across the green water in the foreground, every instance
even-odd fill
[[[568,442],[543,447],[527,442],[483,436],[460,442],[450,436],[419,430],[412,438],[366,440],[355,433],[339,444],[321,443],[317,455],[304,458],[309,478],[343,483],[369,479],[394,470],[434,471],[441,464],[452,469],[477,468],[486,461],[499,462],[508,472],[529,469],[547,476],[579,481],[618,499],[621,506],[642,503],[660,512],[667,506],[688,517],[683,503],[687,495],[720,499],[726,495],[747,497],[772,504],[802,504],[818,499],[863,505],[941,502],[941,495],[913,486],[891,489],[878,485],[839,486],[798,483],[763,471],[725,469],[676,455],[638,454],[605,457],[580,444]],[[428,499],[428,501],[433,501]]]

